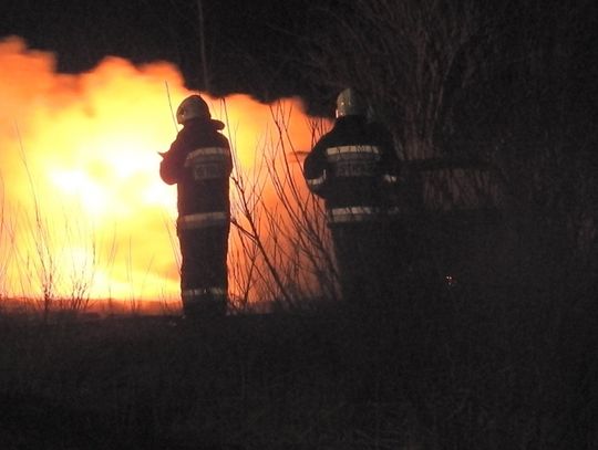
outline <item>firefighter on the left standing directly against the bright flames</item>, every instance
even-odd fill
[[[224,315],[230,230],[230,145],[199,95],[185,98],[176,118],[183,128],[162,154],[159,175],[177,185],[181,294],[186,316]]]

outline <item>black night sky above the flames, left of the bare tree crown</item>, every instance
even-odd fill
[[[309,91],[297,61],[308,29],[302,0],[204,0],[209,87],[261,100]],[[195,0],[2,0],[0,36],[53,51],[59,71],[78,73],[105,55],[176,64],[187,87],[204,88]]]

